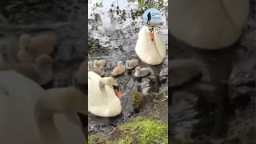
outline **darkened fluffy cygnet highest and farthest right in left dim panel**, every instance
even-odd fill
[[[17,58],[21,62],[35,62],[41,54],[53,54],[58,46],[56,38],[50,34],[39,34],[31,38],[30,34],[22,34],[19,38],[20,50]]]

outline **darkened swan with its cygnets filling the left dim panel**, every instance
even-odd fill
[[[57,46],[57,39],[51,34],[22,34],[0,40],[0,143],[86,142],[79,117],[87,114],[82,90],[42,88],[53,80]],[[74,77],[78,83],[86,84],[86,74],[81,74],[86,63],[82,64]]]

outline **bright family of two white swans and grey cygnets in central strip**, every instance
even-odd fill
[[[140,30],[135,52],[142,62],[153,66],[160,65],[166,57],[166,46],[154,28],[153,34],[149,29],[152,28],[143,26]],[[125,74],[126,70],[134,70],[134,77],[143,78],[152,74],[152,70],[139,66],[138,59],[128,59],[125,64],[118,61],[118,66],[111,70],[110,77],[102,77],[105,75],[102,74],[105,66],[106,60],[88,62],[88,111],[100,117],[114,117],[122,113],[122,92],[115,89],[118,83],[113,77]]]

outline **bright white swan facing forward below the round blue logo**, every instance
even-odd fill
[[[166,57],[166,46],[158,32],[154,30],[154,39],[150,39],[150,30],[148,26],[143,26],[138,33],[138,40],[135,46],[135,52],[143,62],[150,65],[161,64]]]

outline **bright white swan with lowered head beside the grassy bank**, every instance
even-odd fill
[[[121,102],[113,88],[117,85],[114,78],[102,78],[92,71],[88,72],[88,111],[100,117],[121,114]]]

